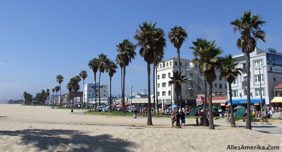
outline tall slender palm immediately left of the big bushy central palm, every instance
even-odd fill
[[[129,39],[124,39],[122,43],[119,43],[116,45],[117,52],[120,56],[120,61],[123,65],[123,90],[122,90],[122,96],[123,96],[123,111],[125,113],[125,75],[126,75],[126,66],[131,63],[131,59],[134,59],[136,56],[135,48],[136,45],[129,41]]]

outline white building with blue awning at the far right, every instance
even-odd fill
[[[276,53],[276,49],[273,48],[267,48],[265,50],[268,52],[256,48],[250,54],[251,105],[254,105],[257,109],[260,109],[260,88],[263,105],[269,105],[270,101],[274,98],[273,88],[282,82],[282,54]],[[233,58],[239,63],[237,68],[243,69],[243,73],[232,84],[232,103],[246,104],[246,56],[245,54],[240,54],[233,56]]]

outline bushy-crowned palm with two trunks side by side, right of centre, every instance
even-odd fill
[[[220,47],[216,47],[215,41],[208,41],[207,39],[197,38],[196,41],[192,41],[194,46],[190,48],[193,49],[193,55],[195,56],[192,62],[199,63],[199,71],[204,74],[204,91],[205,91],[205,102],[204,102],[204,123],[206,121],[206,105],[207,105],[207,87],[208,83],[208,97],[209,97],[209,129],[214,130],[213,115],[212,115],[212,82],[216,79],[214,68],[221,68],[221,58],[218,55],[223,53]],[[206,125],[203,124],[203,125]]]

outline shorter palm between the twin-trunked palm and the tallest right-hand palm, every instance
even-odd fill
[[[225,55],[223,58],[223,69],[221,69],[220,76],[225,78],[228,82],[228,90],[229,90],[229,99],[230,99],[230,114],[231,114],[231,127],[236,127],[234,114],[233,114],[233,104],[232,104],[232,88],[231,84],[238,77],[241,75],[241,69],[236,68],[239,63],[235,63],[236,59],[232,58],[232,55]]]

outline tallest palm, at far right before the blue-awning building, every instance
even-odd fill
[[[246,66],[247,66],[247,120],[246,129],[252,129],[251,125],[251,96],[250,96],[250,53],[254,52],[256,47],[256,40],[260,39],[265,42],[265,31],[260,29],[266,21],[260,20],[260,15],[252,15],[252,11],[244,11],[242,17],[231,21],[230,24],[235,26],[233,32],[240,33],[240,37],[237,40],[237,47],[242,49],[242,52],[246,54]]]

